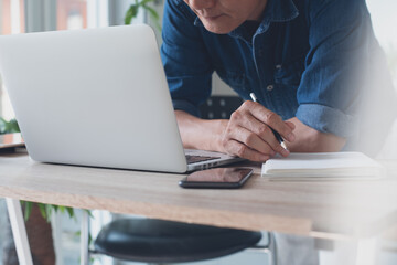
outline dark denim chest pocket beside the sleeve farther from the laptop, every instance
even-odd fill
[[[275,82],[281,86],[299,86],[304,71],[304,56],[292,62],[276,65]]]

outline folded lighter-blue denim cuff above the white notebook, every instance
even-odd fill
[[[302,104],[298,107],[296,117],[313,129],[343,138],[350,138],[358,130],[356,116],[324,105]]]

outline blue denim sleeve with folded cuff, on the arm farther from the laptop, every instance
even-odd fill
[[[348,138],[360,123],[357,107],[373,42],[369,14],[363,0],[309,2],[310,51],[296,116],[319,131]]]

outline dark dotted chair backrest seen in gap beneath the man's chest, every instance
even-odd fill
[[[237,96],[211,96],[200,112],[204,119],[228,119],[242,104],[243,99]]]

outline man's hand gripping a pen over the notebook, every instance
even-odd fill
[[[289,151],[281,147],[270,127],[285,140],[294,141],[292,123],[282,121],[276,113],[247,100],[232,114],[221,145],[225,152],[251,161],[264,162],[277,152],[287,157]]]

